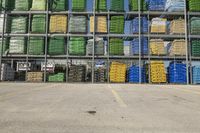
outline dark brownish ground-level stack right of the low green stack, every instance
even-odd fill
[[[86,66],[71,65],[68,73],[69,82],[85,82],[86,81]]]

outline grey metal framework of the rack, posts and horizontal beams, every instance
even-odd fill
[[[127,0],[126,0],[127,1]],[[118,62],[123,62],[127,64],[127,67],[130,67],[132,65],[138,65],[140,67],[146,67],[148,68],[148,77],[147,77],[147,83],[152,83],[151,82],[151,73],[150,73],[150,62],[151,61],[164,61],[165,65],[168,66],[169,62],[171,61],[182,61],[187,65],[187,84],[192,84],[192,63],[194,61],[199,61],[199,57],[193,57],[191,55],[191,47],[190,47],[190,42],[191,39],[199,39],[200,37],[198,35],[191,35],[190,34],[190,25],[189,21],[191,16],[200,16],[199,12],[189,12],[187,10],[187,7],[185,6],[184,12],[167,12],[167,11],[142,11],[140,10],[141,8],[141,1],[138,0],[138,10],[137,11],[129,11],[129,10],[124,10],[124,11],[111,11],[107,9],[107,11],[96,11],[95,9],[95,2],[94,0],[87,0],[90,5],[92,5],[92,9],[90,10],[85,10],[85,11],[72,11],[71,9],[66,10],[66,11],[51,11],[50,10],[50,0],[47,0],[47,5],[46,5],[46,10],[45,11],[9,11],[3,9],[1,11],[1,14],[3,14],[3,29],[2,33],[0,34],[1,36],[1,43],[4,44],[5,38],[7,37],[25,37],[27,40],[30,40],[31,37],[44,37],[44,55],[29,55],[28,53],[24,55],[20,54],[15,54],[15,55],[4,55],[1,52],[0,56],[0,66],[2,66],[3,63],[8,63],[11,65],[12,68],[15,68],[17,66],[17,62],[24,62],[24,69],[25,71],[23,72],[17,72],[19,79],[16,79],[14,81],[26,81],[27,79],[27,73],[29,72],[29,69],[34,70],[34,71],[39,71],[41,70],[42,66],[41,63],[43,64],[43,80],[37,81],[37,82],[48,82],[48,62],[50,63],[57,63],[60,64],[62,67],[65,69],[61,70],[62,73],[64,73],[65,78],[63,82],[70,82],[69,81],[69,67],[71,64],[86,64],[87,65],[87,71],[86,72],[86,79],[85,82],[89,83],[96,83],[95,80],[95,64],[99,61],[104,62],[103,64],[105,65],[105,83],[112,83],[110,82],[110,65],[113,61],[118,61]],[[108,3],[110,3],[110,0],[107,0]],[[71,0],[69,0],[69,5],[72,3]],[[185,5],[187,3],[187,0],[185,0]],[[109,4],[107,4],[109,7]],[[127,5],[125,5],[127,6]],[[70,8],[70,6],[68,7]],[[17,33],[7,33],[6,32],[6,19],[8,16],[27,16],[28,17],[28,31],[25,34],[17,34]],[[31,32],[31,19],[33,15],[46,15],[46,27],[45,27],[45,32],[44,33],[32,33]],[[66,15],[67,16],[67,23],[69,24],[69,19],[72,15],[83,15],[87,17],[87,21],[89,23],[89,18],[91,16],[94,16],[94,32],[90,33],[89,32],[89,27],[88,27],[88,32],[87,33],[70,33],[69,28],[67,28],[67,33],[49,33],[49,19],[51,15]],[[125,20],[132,20],[133,18],[138,17],[139,19],[139,24],[138,24],[138,33],[132,34],[113,34],[110,33],[110,18],[111,16],[119,16],[122,15],[125,17]],[[96,16],[106,16],[107,17],[107,33],[97,33],[96,32]],[[148,21],[151,21],[152,18],[154,17],[160,17],[160,18],[167,18],[169,20],[172,20],[173,18],[183,18],[185,21],[185,34],[159,34],[159,33],[151,33],[150,31],[150,24],[148,26],[148,32],[147,33],[142,33],[142,22],[141,18],[145,16]],[[88,24],[89,25],[89,24]],[[55,55],[55,56],[50,56],[48,55],[48,42],[50,37],[65,37],[66,42],[65,42],[65,48],[66,48],[66,53],[65,55]],[[87,39],[93,39],[95,42],[96,37],[104,38],[104,40],[107,41],[107,54],[97,56],[95,55],[94,51],[94,45],[93,44],[93,52],[92,55],[85,55],[85,56],[76,56],[76,55],[70,55],[69,54],[69,41],[71,37],[84,37]],[[139,38],[139,44],[141,44],[141,38],[146,37],[148,39],[148,54],[147,55],[142,55],[141,54],[141,45],[139,45],[139,52],[137,55],[124,55],[124,56],[119,56],[119,55],[110,55],[109,54],[109,42],[111,38],[122,38],[124,41],[130,41],[133,40],[134,38]],[[184,39],[186,43],[186,50],[185,50],[185,55],[181,56],[168,56],[168,55],[151,55],[150,53],[150,40],[151,39],[163,39],[165,41],[173,41],[174,39]],[[28,50],[29,45],[27,45],[27,50]],[[27,67],[29,63],[32,64],[32,68]],[[56,66],[54,66],[56,67]],[[15,68],[16,70],[17,68]],[[59,66],[59,71],[60,71],[60,66]],[[58,71],[58,73],[59,73]],[[55,76],[56,77],[56,76]],[[142,82],[142,71],[139,69],[139,82],[138,83],[143,83]],[[125,82],[124,82],[125,83]]]

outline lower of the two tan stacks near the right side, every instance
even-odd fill
[[[185,42],[185,40],[184,39],[174,40],[172,42],[172,46],[170,47],[169,55],[170,56],[186,55],[186,42]]]

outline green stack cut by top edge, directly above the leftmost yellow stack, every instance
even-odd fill
[[[51,0],[52,11],[65,11],[68,7],[67,0]]]

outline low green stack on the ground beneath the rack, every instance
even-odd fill
[[[65,74],[64,73],[57,73],[57,74],[50,74],[48,76],[49,82],[64,82]]]

